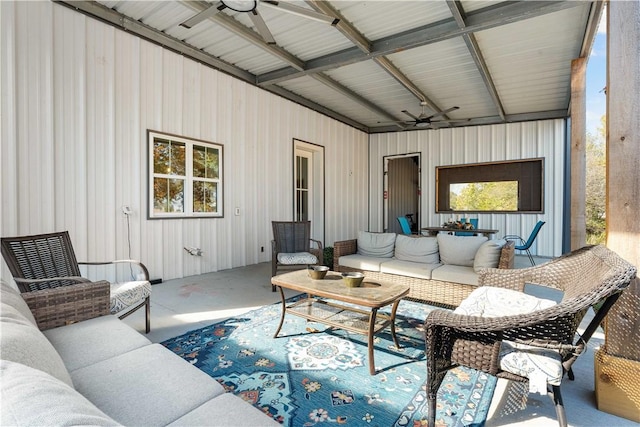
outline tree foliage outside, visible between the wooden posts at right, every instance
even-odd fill
[[[587,133],[586,223],[587,243],[605,243],[606,223],[606,118],[600,118],[596,135]]]

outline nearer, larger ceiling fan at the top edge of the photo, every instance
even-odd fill
[[[292,13],[294,15],[302,16],[304,18],[313,19],[315,21],[331,24],[336,26],[340,20],[333,16],[325,15],[324,13],[316,12],[315,10],[306,9],[301,6],[296,6],[283,1],[271,1],[271,0],[220,0],[208,8],[196,13],[191,18],[182,22],[180,25],[185,28],[191,28],[196,24],[204,21],[207,18],[214,16],[217,13],[222,12],[225,9],[230,9],[235,12],[245,12],[249,14],[249,18],[253,25],[260,33],[262,39],[269,44],[275,44],[276,41],[269,31],[269,27],[264,22],[264,19],[258,12],[258,2],[262,5],[269,6],[281,10],[283,12]]]

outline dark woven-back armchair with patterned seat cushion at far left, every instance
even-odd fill
[[[67,231],[3,237],[1,245],[2,256],[23,293],[92,282],[81,276],[80,265],[113,266],[111,271],[105,272],[113,282],[110,285],[111,314],[118,314],[123,319],[145,307],[145,330],[147,333],[151,330],[151,283],[144,264],[134,260],[79,263]],[[117,281],[121,271],[126,272],[127,280]]]

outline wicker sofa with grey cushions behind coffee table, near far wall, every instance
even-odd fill
[[[410,287],[409,298],[457,307],[478,287],[482,268],[513,268],[514,242],[482,236],[436,237],[361,231],[335,242],[333,269]]]

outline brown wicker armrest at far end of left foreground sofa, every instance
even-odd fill
[[[109,314],[109,297],[110,285],[107,281],[79,283],[22,294],[38,328],[43,331]]]

